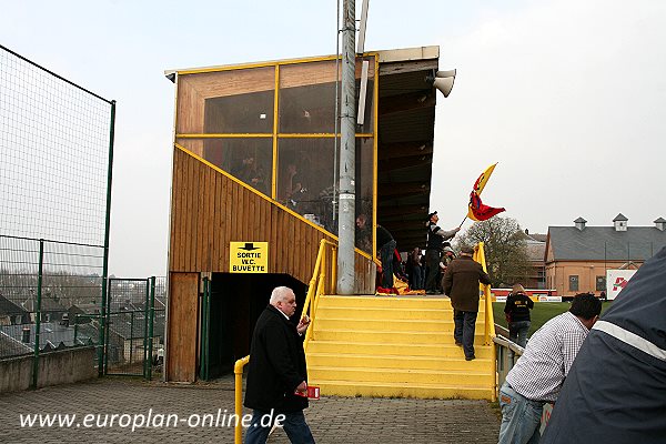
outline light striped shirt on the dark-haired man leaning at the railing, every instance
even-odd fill
[[[506,381],[528,400],[555,402],[587,333],[571,312],[553,317],[532,335]]]

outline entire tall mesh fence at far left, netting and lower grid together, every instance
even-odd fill
[[[115,103],[0,46],[0,360],[95,346]]]

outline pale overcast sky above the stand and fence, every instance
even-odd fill
[[[356,0],[360,16],[361,0]],[[335,53],[334,0],[0,0],[0,43],[118,101],[110,273],[164,275],[170,68]],[[666,218],[666,1],[371,0],[366,50],[440,46],[431,208],[483,201],[531,232]],[[464,228],[468,228],[466,222]]]

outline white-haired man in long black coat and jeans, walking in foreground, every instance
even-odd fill
[[[245,444],[265,443],[275,418],[292,443],[314,443],[303,415],[307,397],[301,395],[307,389],[303,334],[310,320],[294,325],[295,311],[294,292],[279,286],[254,326],[245,391],[245,406],[254,412]]]

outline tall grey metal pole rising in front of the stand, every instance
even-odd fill
[[[337,293],[353,294],[356,214],[356,10],[354,0],[344,0],[343,4]]]

